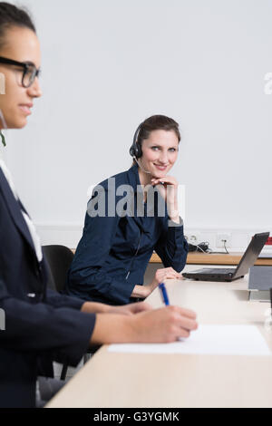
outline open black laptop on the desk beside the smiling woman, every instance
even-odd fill
[[[199,281],[234,281],[248,274],[249,267],[253,266],[259,253],[267,242],[269,232],[255,234],[237,267],[198,269],[197,271],[184,272],[182,276]],[[209,256],[209,255],[208,255]]]

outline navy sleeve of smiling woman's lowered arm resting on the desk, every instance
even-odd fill
[[[109,214],[107,200],[106,190],[104,216],[91,217],[90,208],[88,208],[83,237],[70,268],[67,290],[69,294],[84,295],[86,298],[89,296],[91,299],[93,295],[101,296],[109,303],[123,305],[130,302],[134,284],[125,279],[110,276],[106,272],[105,261],[110,253],[120,220],[117,214],[112,216]]]

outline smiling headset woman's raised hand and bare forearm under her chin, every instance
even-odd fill
[[[164,176],[163,178],[152,178],[151,185],[158,185],[161,197],[167,203],[167,211],[173,222],[180,223],[178,208],[178,181],[172,176]]]

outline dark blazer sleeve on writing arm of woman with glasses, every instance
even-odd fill
[[[52,360],[75,366],[89,347],[95,315],[17,299],[8,293],[1,276],[0,309],[5,320],[0,331],[3,349],[47,353]]]

